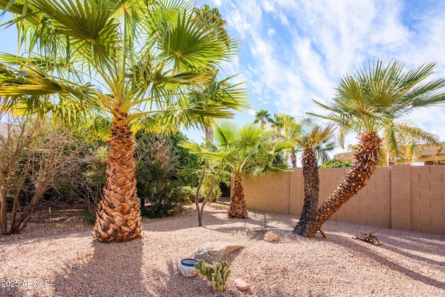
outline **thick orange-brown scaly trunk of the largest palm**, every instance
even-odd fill
[[[113,120],[110,154],[104,160],[106,185],[104,198],[96,211],[97,241],[131,241],[140,236],[140,206],[136,195],[136,161],[130,127],[124,120]]]

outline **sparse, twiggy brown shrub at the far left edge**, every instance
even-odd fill
[[[56,177],[76,166],[80,149],[70,132],[38,120],[8,117],[0,135],[0,225],[16,234],[29,222],[43,195],[56,188]],[[9,213],[9,214],[8,214]]]

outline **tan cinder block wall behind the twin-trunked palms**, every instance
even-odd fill
[[[320,204],[345,172],[346,168],[319,170]],[[304,200],[301,168],[245,179],[243,186],[248,209],[300,216]],[[368,184],[331,219],[445,234],[445,166],[377,168]]]

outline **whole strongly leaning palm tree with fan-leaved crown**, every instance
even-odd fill
[[[371,178],[380,158],[382,139],[378,133],[388,122],[413,109],[444,102],[445,79],[426,81],[434,67],[435,63],[427,63],[404,71],[403,63],[398,61],[387,64],[369,62],[341,79],[330,105],[316,102],[330,111],[328,115],[318,116],[339,125],[340,141],[349,131],[357,131],[360,139],[345,177],[307,226],[308,236],[314,236],[323,223]]]

